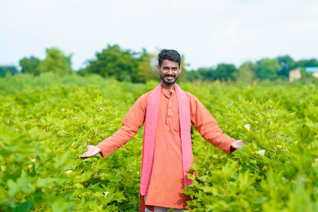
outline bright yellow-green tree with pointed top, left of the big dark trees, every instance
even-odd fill
[[[58,74],[71,74],[72,54],[64,55],[58,48],[46,49],[46,57],[38,66],[40,73],[53,72]]]

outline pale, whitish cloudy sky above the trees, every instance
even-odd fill
[[[157,54],[175,49],[187,69],[239,67],[289,55],[318,59],[317,0],[3,0],[0,66],[72,54],[72,68],[108,45]]]

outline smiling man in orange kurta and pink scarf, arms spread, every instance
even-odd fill
[[[162,50],[157,65],[161,83],[135,102],[114,135],[97,146],[88,145],[87,152],[79,156],[101,154],[107,157],[133,138],[145,124],[140,211],[186,209],[190,197],[183,190],[184,184],[192,184],[186,174],[194,161],[191,124],[204,139],[229,154],[244,145],[241,140],[223,134],[202,103],[176,84],[182,70],[180,63],[180,54],[176,50]]]

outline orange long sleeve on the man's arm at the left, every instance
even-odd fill
[[[125,115],[121,128],[112,136],[100,142],[97,146],[102,150],[101,156],[107,157],[126,144],[143,126],[149,93],[141,96]]]

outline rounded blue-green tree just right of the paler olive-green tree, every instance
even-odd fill
[[[270,59],[264,58],[257,62],[258,68],[256,76],[261,80],[269,79],[275,80],[278,78],[278,72],[280,71],[280,65],[278,58]]]

